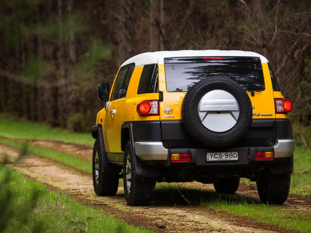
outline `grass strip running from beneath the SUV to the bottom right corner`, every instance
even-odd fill
[[[311,216],[309,214],[284,210],[282,206],[278,205],[262,204],[258,199],[242,195],[221,195],[206,188],[184,188],[177,183],[157,183],[154,199],[155,201],[156,199],[167,200],[176,204],[186,204],[190,201],[193,205],[206,206],[233,214],[229,215],[231,219],[234,219],[234,215],[245,216],[253,219],[254,222],[276,225],[298,232],[311,232]],[[210,214],[208,209],[206,212]]]

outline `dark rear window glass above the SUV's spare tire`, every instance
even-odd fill
[[[265,89],[259,58],[225,58],[222,61],[203,61],[202,58],[166,58],[166,87],[169,92],[187,92],[189,88],[211,77],[227,77],[246,91]]]

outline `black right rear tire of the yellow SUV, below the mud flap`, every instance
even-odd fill
[[[256,181],[259,198],[263,203],[283,204],[291,186],[291,174],[265,175]]]

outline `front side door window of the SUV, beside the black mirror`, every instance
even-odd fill
[[[126,96],[128,84],[130,83],[135,65],[130,67],[121,68],[112,94],[111,100],[118,100]]]

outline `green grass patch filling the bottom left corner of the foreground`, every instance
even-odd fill
[[[6,175],[3,175],[4,173]],[[84,206],[64,194],[49,191],[43,184],[29,181],[3,166],[0,166],[0,174],[0,183],[4,183],[0,190],[0,201],[8,202],[5,206],[9,208],[1,212],[0,216],[11,216],[5,229],[7,233],[150,232],[131,226],[103,210]],[[6,177],[4,182],[3,177]],[[7,191],[12,195],[5,195]],[[35,202],[34,193],[37,196]],[[4,224],[3,216],[0,220],[0,230]]]

